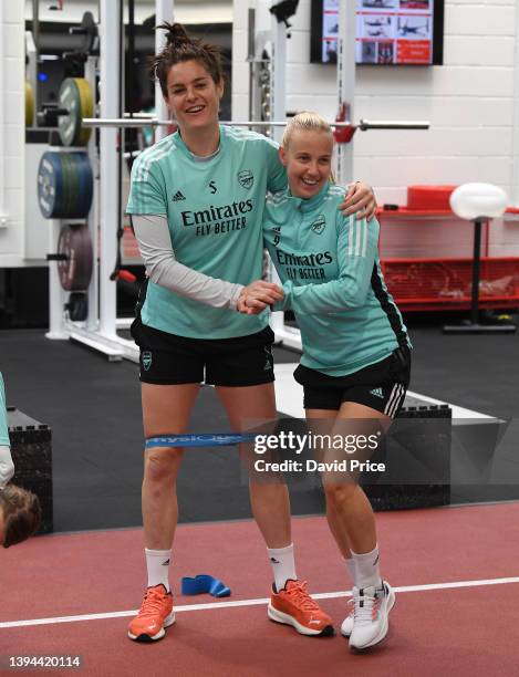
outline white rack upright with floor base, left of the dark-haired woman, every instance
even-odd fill
[[[170,21],[174,15],[174,0],[156,0],[157,23]],[[73,322],[63,310],[65,294],[61,289],[58,268],[49,267],[50,327],[49,338],[72,338],[106,355],[108,361],[123,358],[138,362],[138,348],[133,341],[117,334],[117,326],[127,326],[127,321],[116,317],[116,282],[111,280],[113,262],[117,256],[115,237],[120,222],[117,190],[113,189],[113,177],[118,176],[117,127],[103,125],[102,119],[118,116],[118,93],[121,87],[122,54],[120,53],[121,0],[100,0],[100,153],[98,167],[93,137],[89,143],[89,157],[94,169],[94,199],[89,215],[89,228],[94,248],[92,281],[89,287],[89,315],[86,322]],[[157,31],[157,49],[164,46],[164,38]],[[96,58],[89,58],[85,77],[95,92]],[[157,113],[165,116],[165,104],[158,87],[155,92]],[[70,148],[69,148],[70,149]],[[98,170],[96,170],[98,169]],[[98,223],[98,229],[97,229]],[[50,229],[51,251],[58,241],[61,221],[53,220]],[[97,254],[98,262],[97,262]]]

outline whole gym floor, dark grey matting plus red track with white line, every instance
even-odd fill
[[[517,417],[518,336],[446,336],[437,315],[407,322],[412,390]],[[378,513],[384,575],[402,594],[388,638],[356,656],[340,636],[307,638],[268,622],[263,544],[236,455],[221,449],[187,455],[173,583],[178,592],[180,576],[210,573],[232,595],[216,603],[176,595],[177,624],[166,638],[157,646],[129,643],[126,623],[139,604],[145,573],[137,365],[49,341],[42,330],[3,331],[0,342],[8,404],[52,429],[54,531],[61,532],[2,553],[2,655],[81,655],[89,675],[516,671],[510,627],[517,611],[509,600],[519,583],[517,543],[506,534],[517,524],[517,482],[459,488],[451,500],[463,507]],[[295,363],[298,355],[277,348],[276,358]],[[224,431],[228,424],[214,389],[203,388],[191,429],[209,428]],[[515,470],[513,449],[507,454]],[[292,502],[300,515],[298,573],[339,625],[345,576],[324,520],[312,517],[322,513],[322,496],[294,492]],[[474,504],[480,502],[486,504]]]

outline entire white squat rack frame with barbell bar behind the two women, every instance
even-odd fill
[[[259,0],[270,3],[271,0]],[[123,358],[138,362],[138,348],[133,341],[123,338],[117,334],[117,327],[127,326],[127,321],[116,317],[116,284],[111,280],[112,263],[116,258],[115,225],[122,215],[118,211],[117,191],[106,177],[117,176],[117,132],[123,128],[152,126],[158,129],[157,136],[164,136],[165,128],[170,124],[167,108],[163,100],[160,87],[155,88],[155,108],[157,117],[138,116],[118,118],[118,92],[121,86],[121,54],[120,44],[120,6],[121,0],[100,0],[100,71],[101,93],[98,118],[85,118],[85,127],[100,127],[100,156],[98,173],[94,170],[94,201],[93,213],[89,216],[89,225],[94,244],[94,268],[92,282],[89,288],[89,316],[86,323],[72,322],[63,312],[64,294],[60,289],[56,267],[50,267],[50,331],[49,338],[73,338],[80,343],[105,354],[110,361]],[[156,23],[170,21],[174,15],[174,0],[156,0]],[[334,126],[352,127],[353,95],[355,85],[354,59],[354,0],[341,0],[338,40],[338,93],[339,106],[349,105],[350,121],[331,123]],[[347,20],[347,18],[352,20]],[[279,139],[281,127],[286,125],[286,46],[287,27],[271,15],[271,118],[269,121],[230,122],[235,126],[261,127],[271,129],[271,136]],[[156,50],[164,46],[164,37],[156,33]],[[95,91],[95,59],[87,62],[85,75]],[[251,92],[249,95],[251,96]],[[395,121],[364,121],[361,119],[356,128],[367,129],[427,129],[428,122],[395,122]],[[93,138],[90,140],[89,155],[95,167],[96,155]],[[353,144],[339,144],[338,146],[338,178],[342,185],[351,180],[353,171]],[[96,189],[98,187],[98,190]],[[97,206],[98,201],[98,206]],[[100,223],[97,236],[97,222]],[[59,233],[59,221],[53,222],[52,243],[54,247]],[[97,252],[101,252],[97,264]],[[271,270],[276,280],[276,271]],[[284,323],[282,312],[272,313],[271,325],[276,341],[301,350],[301,335],[298,329]]]

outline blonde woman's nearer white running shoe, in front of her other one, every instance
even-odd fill
[[[353,589],[354,618],[350,646],[364,649],[382,642],[390,627],[390,611],[395,604],[395,593],[386,581],[382,587]]]

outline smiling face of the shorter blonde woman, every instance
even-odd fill
[[[332,171],[333,137],[322,131],[295,129],[279,149],[294,197],[309,199],[320,192]]]

